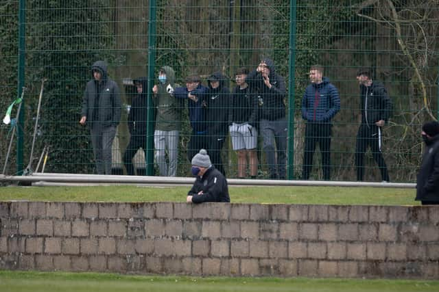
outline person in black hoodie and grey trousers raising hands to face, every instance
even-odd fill
[[[287,161],[287,118],[285,116],[285,79],[276,73],[274,62],[263,59],[246,78],[258,97],[259,131],[267,158],[270,178],[285,179]],[[276,161],[277,157],[277,161]]]

